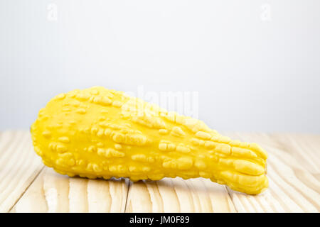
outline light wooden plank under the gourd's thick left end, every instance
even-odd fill
[[[128,182],[59,175],[45,167],[12,212],[124,212]]]

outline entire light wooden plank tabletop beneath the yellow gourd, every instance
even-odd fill
[[[70,178],[33,152],[28,131],[0,133],[0,212],[319,212],[320,135],[221,133],[269,153],[266,192],[249,196],[208,179]]]

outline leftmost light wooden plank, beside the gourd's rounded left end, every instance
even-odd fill
[[[0,134],[0,212],[7,212],[43,168],[28,131]]]

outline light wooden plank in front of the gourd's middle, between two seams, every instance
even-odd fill
[[[126,212],[235,212],[224,186],[209,179],[132,182]]]

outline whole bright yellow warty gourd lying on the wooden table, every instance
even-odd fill
[[[31,135],[44,164],[70,177],[205,177],[247,194],[268,187],[267,153],[259,145],[103,87],[55,96]]]

